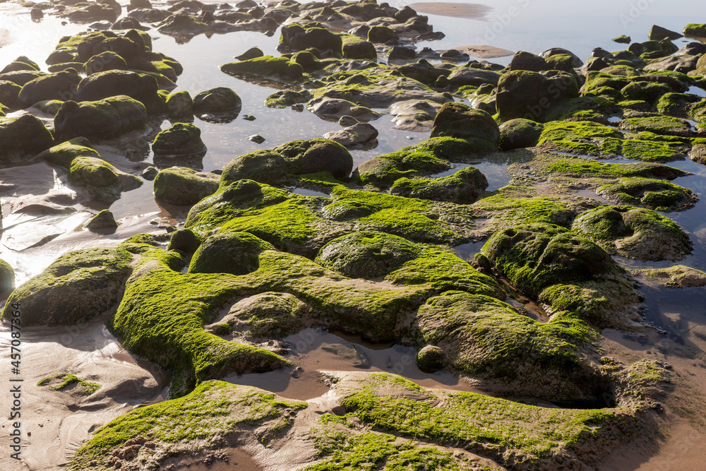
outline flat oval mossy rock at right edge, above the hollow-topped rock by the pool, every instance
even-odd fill
[[[669,181],[623,178],[601,186],[597,193],[617,204],[644,206],[653,210],[674,211],[690,208],[698,200],[690,189]]]

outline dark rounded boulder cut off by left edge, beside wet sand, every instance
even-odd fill
[[[0,117],[0,162],[9,163],[34,156],[52,146],[54,138],[44,123],[31,114]]]

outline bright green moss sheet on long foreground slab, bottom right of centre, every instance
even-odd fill
[[[380,376],[378,384],[345,397],[350,415],[377,430],[491,454],[505,465],[539,463],[585,446],[616,419],[613,412],[549,409],[475,393],[422,393],[401,378],[397,393],[387,395],[394,376]]]

